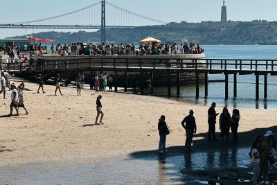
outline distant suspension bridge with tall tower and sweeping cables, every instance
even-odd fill
[[[106,42],[106,29],[153,28],[161,25],[166,25],[166,22],[131,12],[109,1],[102,0],[90,6],[53,17],[14,24],[0,24],[0,28],[94,29],[101,30],[101,42]]]

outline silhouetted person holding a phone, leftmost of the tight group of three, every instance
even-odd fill
[[[211,107],[208,109],[208,141],[213,142],[217,141],[215,137],[215,123],[216,117],[219,113],[215,112],[216,103],[212,103]],[[213,140],[211,139],[211,135],[213,136]]]

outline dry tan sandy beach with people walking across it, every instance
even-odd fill
[[[19,85],[19,82],[16,82]],[[190,109],[197,121],[197,146],[204,150],[208,130],[207,110],[204,105],[153,96],[138,96],[113,92],[82,90],[62,87],[64,96],[54,96],[55,87],[44,85],[46,94],[37,94],[37,85],[26,83],[26,108],[30,112],[20,116],[9,114],[10,91],[0,97],[0,166],[20,166],[30,163],[51,162],[58,165],[102,161],[112,157],[127,157],[136,151],[156,150],[159,141],[157,123],[161,114],[166,116],[171,134],[167,146],[184,146],[181,121]],[[102,95],[104,125],[95,122],[96,97]],[[222,112],[222,107],[216,107]],[[232,108],[229,107],[231,112]],[[265,134],[268,127],[277,132],[276,109],[240,109],[240,145],[250,145],[256,134]],[[217,118],[218,120],[218,118]],[[83,127],[82,125],[89,125]],[[217,132],[220,132],[217,121]],[[203,141],[202,141],[203,140]],[[216,145],[216,144],[215,144]],[[240,146],[239,145],[239,146]]]

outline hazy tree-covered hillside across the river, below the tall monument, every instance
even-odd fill
[[[200,44],[277,44],[277,21],[202,21],[201,23],[170,23],[152,28],[107,30],[107,42],[136,44],[146,36],[168,43],[195,42]],[[29,35],[30,36],[30,35]],[[100,43],[100,31],[75,33],[43,32],[35,37],[55,39],[57,43],[93,42]],[[26,35],[12,38],[26,38]]]

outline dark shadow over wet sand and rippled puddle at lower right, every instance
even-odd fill
[[[157,161],[159,173],[181,184],[251,184],[248,155],[250,146],[259,134],[264,135],[267,130],[277,133],[277,126],[240,132],[238,145],[209,143],[206,139],[207,134],[200,133],[195,134],[194,139],[202,139],[193,141],[191,151],[184,150],[184,146],[172,146],[163,154],[159,154],[158,150],[148,150],[133,152],[130,157],[143,161]],[[276,177],[276,173],[269,175],[269,182],[277,184]]]

